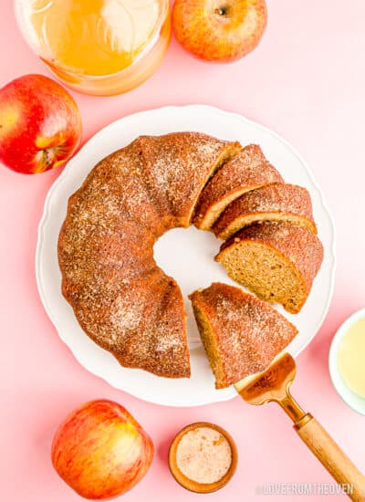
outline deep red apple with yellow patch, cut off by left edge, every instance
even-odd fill
[[[0,89],[0,162],[17,173],[44,173],[68,161],[81,138],[75,100],[43,75]]]

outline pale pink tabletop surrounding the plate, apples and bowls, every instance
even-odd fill
[[[111,120],[135,111],[206,103],[272,128],[306,158],[335,218],[339,267],[328,317],[297,360],[293,393],[365,470],[364,418],[342,403],[329,380],[327,363],[339,323],[364,307],[365,298],[365,3],[270,0],[268,9],[260,47],[234,65],[196,61],[172,41],[162,68],[140,89],[116,98],[74,96],[84,120],[84,141]],[[0,47],[0,86],[26,73],[47,74],[18,33],[11,0],[2,0],[0,6]],[[0,169],[1,499],[79,500],[53,471],[49,446],[65,414],[99,397],[125,405],[156,446],[151,471],[124,496],[125,502],[198,497],[175,483],[166,455],[172,436],[201,420],[223,425],[240,451],[235,478],[212,499],[290,500],[256,496],[255,487],[269,482],[331,482],[274,404],[255,408],[236,398],[200,408],[165,408],[113,390],[74,360],[47,319],[34,272],[36,229],[58,174],[59,170],[26,177]]]

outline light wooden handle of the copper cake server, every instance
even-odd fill
[[[344,486],[344,493],[355,502],[364,502],[365,476],[352,464],[322,425],[307,413],[294,428],[328,473],[339,485]]]

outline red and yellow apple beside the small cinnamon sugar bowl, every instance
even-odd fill
[[[61,424],[52,444],[52,463],[78,495],[93,500],[120,496],[150,468],[150,436],[120,404],[86,403]]]

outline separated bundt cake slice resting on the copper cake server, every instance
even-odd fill
[[[264,371],[297,335],[287,319],[242,289],[214,283],[189,298],[217,389]]]

